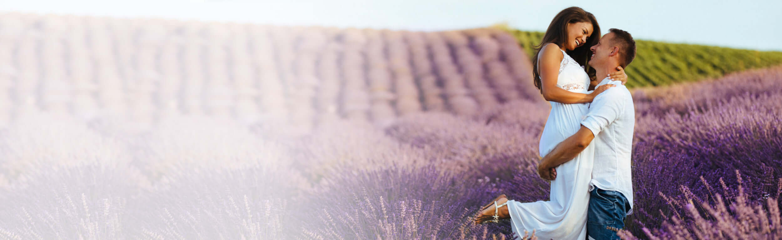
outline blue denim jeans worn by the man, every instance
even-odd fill
[[[619,239],[616,231],[625,227],[630,202],[621,192],[594,188],[590,192],[587,211],[587,235],[596,239]]]

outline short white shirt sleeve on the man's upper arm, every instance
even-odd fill
[[[584,116],[584,119],[581,121],[581,125],[589,128],[595,137],[605,127],[608,127],[608,124],[622,116],[622,110],[625,109],[626,101],[622,101],[624,95],[622,95],[621,91],[615,90],[619,89],[608,89],[597,95],[590,103],[587,116]]]

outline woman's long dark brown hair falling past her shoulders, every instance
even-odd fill
[[[600,25],[597,25],[597,20],[595,20],[594,15],[584,11],[584,9],[579,7],[562,9],[561,12],[557,13],[557,16],[554,16],[554,20],[551,20],[551,23],[548,24],[548,29],[546,30],[546,34],[543,34],[543,40],[540,41],[540,45],[535,46],[535,56],[533,56],[533,81],[535,81],[535,88],[538,88],[541,94],[543,93],[543,89],[541,88],[540,83],[540,72],[537,70],[538,54],[540,53],[540,49],[549,43],[553,42],[559,47],[565,45],[565,41],[568,41],[568,23],[592,23],[592,34],[587,38],[587,42],[584,43],[584,45],[573,49],[573,51],[569,51],[568,55],[572,59],[575,59],[579,65],[583,65],[586,68],[587,75],[589,75],[591,80],[594,80],[595,78],[594,68],[591,68],[587,63],[592,56],[592,51],[590,51],[589,48],[597,45],[597,41],[600,40]]]

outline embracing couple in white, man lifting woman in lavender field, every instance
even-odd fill
[[[476,224],[510,219],[520,236],[534,230],[540,239],[619,239],[633,210],[635,109],[623,69],[635,54],[624,30],[601,38],[592,13],[570,7],[554,16],[533,57],[535,86],[551,102],[538,165],[551,181],[550,199],[500,195],[476,214]]]

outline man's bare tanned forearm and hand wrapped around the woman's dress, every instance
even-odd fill
[[[546,156],[543,156],[543,159],[540,161],[540,167],[551,168],[567,163],[569,160],[579,156],[579,153],[587,148],[592,139],[594,139],[592,131],[582,126],[576,134],[566,138],[565,141],[560,142]]]

